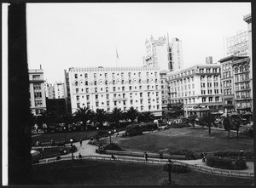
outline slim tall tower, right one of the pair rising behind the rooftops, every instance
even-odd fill
[[[183,43],[178,38],[168,42],[168,70],[178,71],[183,69]]]

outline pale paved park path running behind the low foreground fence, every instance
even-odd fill
[[[99,153],[96,153],[96,149],[98,148],[98,146],[96,145],[90,145],[88,144],[90,140],[84,140],[82,142],[82,145],[80,145],[79,142],[75,142],[73,143],[74,145],[76,145],[76,147],[78,148],[78,151],[74,152],[73,155],[74,156],[79,156],[79,153],[82,155],[82,156],[90,156],[90,155],[93,155],[93,156],[107,156],[109,157],[109,155],[106,155],[106,154],[99,154]],[[69,153],[67,154],[67,156],[71,156],[72,154]],[[139,158],[139,157],[134,157],[134,158]],[[140,157],[141,158],[141,157]],[[149,157],[150,158],[150,157]],[[207,162],[202,162],[201,159],[197,159],[197,160],[174,160],[174,161],[177,161],[177,162],[186,162],[188,164],[194,164],[194,165],[199,165],[199,166],[202,166],[202,167],[208,167],[207,166]],[[247,162],[247,169],[245,170],[239,170],[239,172],[248,172],[248,173],[254,173],[254,162]],[[209,167],[208,167],[209,168]],[[212,168],[212,167],[211,167]],[[218,169],[218,168],[214,168],[214,169]],[[238,171],[238,170],[237,170]]]

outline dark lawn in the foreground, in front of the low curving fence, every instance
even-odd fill
[[[162,166],[127,162],[74,161],[32,167],[35,185],[159,185],[168,178]],[[42,175],[44,174],[44,175]],[[239,179],[191,171],[172,174],[179,185],[253,185],[253,179]]]

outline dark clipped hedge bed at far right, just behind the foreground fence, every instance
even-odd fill
[[[207,165],[214,168],[222,169],[246,169],[247,163],[244,159],[231,159],[227,157],[216,157],[216,156],[207,156]]]

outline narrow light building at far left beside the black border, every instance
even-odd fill
[[[30,69],[29,75],[29,92],[30,92],[30,109],[33,115],[38,115],[40,111],[46,110],[45,89],[44,89],[44,70]]]

